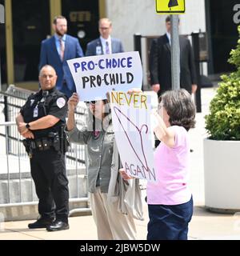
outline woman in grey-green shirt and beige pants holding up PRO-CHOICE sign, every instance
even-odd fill
[[[75,93],[68,101],[67,133],[70,142],[87,145],[88,189],[98,239],[135,239],[134,218],[142,218],[141,191],[137,179],[128,182],[119,175],[110,106],[107,100],[87,102],[87,125],[78,130],[74,120],[78,101]],[[127,198],[126,192],[131,198]]]

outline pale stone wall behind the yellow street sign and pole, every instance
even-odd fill
[[[206,31],[205,1],[186,0],[186,14],[181,19],[180,33]],[[106,15],[113,22],[114,37],[122,39],[126,51],[134,49],[133,35],[160,35],[165,33],[166,15],[155,12],[154,0],[106,0]]]

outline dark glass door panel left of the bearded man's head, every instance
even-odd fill
[[[41,42],[50,34],[49,0],[12,0],[12,23],[14,83],[31,90],[38,83]]]

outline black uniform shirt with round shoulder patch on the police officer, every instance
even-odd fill
[[[46,115],[53,115],[60,120],[54,125],[42,130],[32,130],[34,138],[46,137],[50,131],[59,131],[59,127],[66,123],[67,101],[66,96],[55,87],[48,90],[44,96],[42,90],[30,95],[26,104],[20,110],[24,122],[33,122]]]

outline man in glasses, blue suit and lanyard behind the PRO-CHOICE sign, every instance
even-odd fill
[[[98,22],[100,37],[89,42],[86,46],[86,56],[101,54],[122,53],[122,42],[117,38],[111,38],[112,22],[109,18],[101,18]]]

